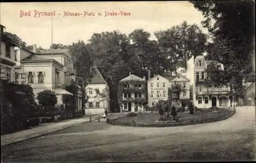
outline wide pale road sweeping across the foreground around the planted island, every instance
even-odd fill
[[[2,147],[3,162],[253,160],[255,106],[232,117],[181,127],[79,124]]]

